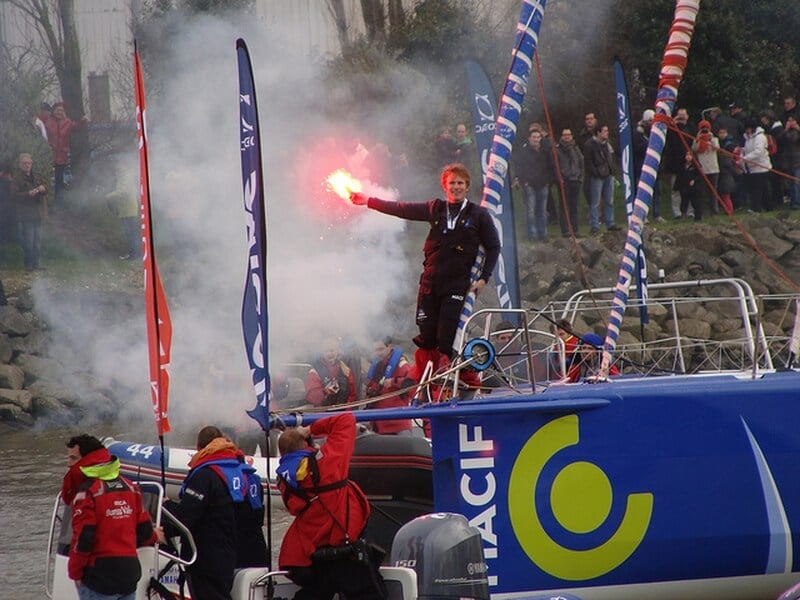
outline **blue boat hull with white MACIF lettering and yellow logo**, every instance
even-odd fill
[[[800,571],[800,373],[622,378],[430,416],[436,510],[481,530],[493,595]]]

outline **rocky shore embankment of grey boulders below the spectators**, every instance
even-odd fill
[[[624,232],[608,232],[575,241],[557,238],[525,244],[519,249],[523,306],[565,300],[586,287],[612,286],[624,239]],[[789,212],[747,216],[741,227],[731,223],[648,226],[644,243],[651,277],[663,269],[667,281],[740,277],[759,295],[796,292],[792,282],[800,281],[800,221]],[[133,299],[140,302],[141,298],[141,291],[135,288],[111,295],[90,289],[69,294],[71,301],[100,306],[108,315],[130,310]],[[0,422],[21,427],[40,419],[70,423],[82,416],[86,406],[92,407],[95,417],[116,414],[118,394],[99,385],[94,374],[82,366],[79,349],[70,364],[53,358],[50,349],[58,340],[37,310],[30,289],[17,289],[9,295],[9,304],[0,306]],[[98,299],[98,295],[104,296]],[[778,322],[778,316],[767,313],[762,319],[768,335],[779,330],[785,333],[786,324]],[[725,335],[722,323],[714,326],[715,321],[698,319],[695,334],[724,339],[715,337]],[[656,311],[645,335],[657,339],[667,335],[668,328],[666,319],[660,319]],[[632,327],[625,335],[632,341],[637,329]]]

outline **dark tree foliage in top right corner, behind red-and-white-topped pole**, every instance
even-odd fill
[[[641,74],[652,103],[674,2],[619,0],[611,38],[628,69]],[[780,15],[780,18],[776,18]],[[717,0],[702,4],[679,104],[698,115],[732,100],[758,111],[794,89],[800,74],[800,7],[794,0]]]

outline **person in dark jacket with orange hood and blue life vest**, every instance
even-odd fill
[[[234,569],[255,566],[252,551],[246,551],[252,546],[240,540],[240,525],[246,523],[239,513],[247,505],[258,510],[259,502],[263,507],[262,488],[255,471],[244,469],[246,463],[240,457],[239,449],[218,427],[203,427],[197,434],[197,453],[189,461],[189,473],[179,492],[180,502],[167,502],[170,512],[191,531],[197,546],[197,560],[186,569],[193,600],[231,600]],[[263,512],[259,514],[263,524]],[[250,533],[257,536],[260,525],[256,523],[253,528]],[[256,543],[255,547],[256,554],[263,548],[260,566],[264,566],[266,543]],[[181,553],[188,558],[191,549],[187,544]]]

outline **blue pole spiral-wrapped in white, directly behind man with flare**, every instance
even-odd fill
[[[528,77],[530,77],[533,65],[533,54],[539,43],[539,29],[544,19],[545,4],[546,0],[522,1],[514,47],[511,51],[511,67],[508,69],[503,95],[500,99],[492,136],[492,149],[489,152],[484,175],[481,206],[485,206],[490,212],[497,212],[493,205],[499,202],[500,193],[505,187],[508,176],[511,148],[517,135],[522,103],[525,100],[525,93],[528,91]],[[472,281],[476,281],[478,278],[484,256],[485,253],[481,247],[472,267]],[[453,348],[456,352],[461,352],[467,320],[472,314],[474,306],[475,293],[469,292],[464,299],[464,306],[458,321],[458,331],[453,340]]]

